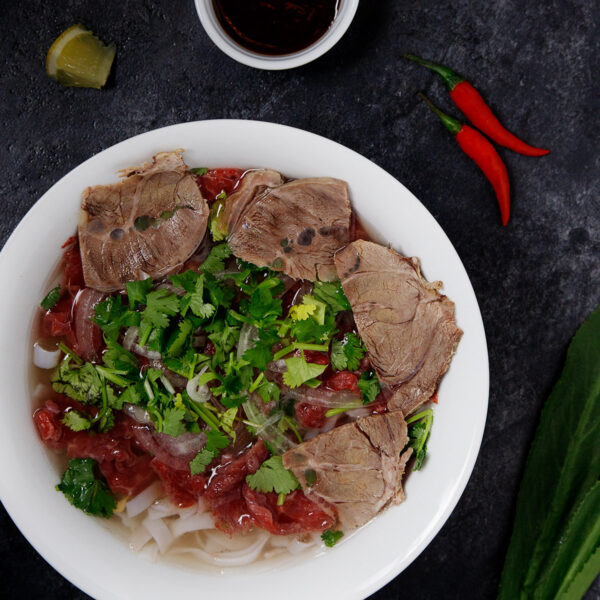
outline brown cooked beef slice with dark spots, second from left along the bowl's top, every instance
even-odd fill
[[[228,219],[233,253],[295,279],[335,278],[333,255],[349,239],[346,182],[317,177],[273,187],[275,175],[251,172],[230,197],[235,200]]]

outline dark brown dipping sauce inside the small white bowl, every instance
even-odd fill
[[[340,0],[213,0],[221,27],[235,42],[260,54],[291,54],[329,29]]]

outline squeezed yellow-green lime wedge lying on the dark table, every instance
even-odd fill
[[[115,58],[114,44],[107,46],[83,25],[63,31],[46,56],[46,74],[63,85],[100,89]]]

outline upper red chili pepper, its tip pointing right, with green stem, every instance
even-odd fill
[[[550,150],[545,150],[544,148],[530,146],[508,131],[498,121],[490,107],[481,97],[481,94],[458,73],[455,73],[444,65],[419,58],[414,54],[405,54],[404,57],[441,75],[454,104],[456,104],[475,127],[483,131],[483,133],[497,144],[525,156],[544,156],[550,152]]]

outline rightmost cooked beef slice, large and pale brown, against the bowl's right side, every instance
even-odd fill
[[[335,257],[369,360],[405,415],[431,398],[462,336],[440,282],[421,276],[416,258],[358,240]]]

